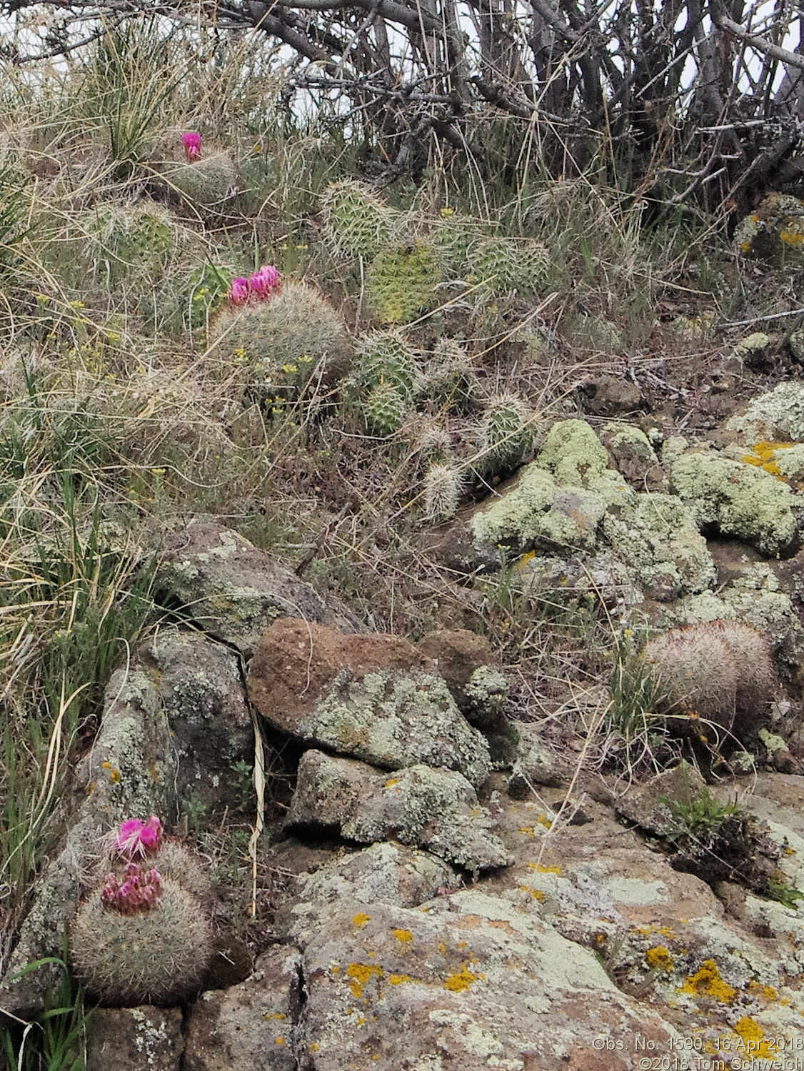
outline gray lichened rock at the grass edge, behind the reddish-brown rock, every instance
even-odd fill
[[[289,614],[348,632],[361,628],[333,595],[319,593],[242,536],[211,522],[191,524],[166,541],[157,588],[246,658],[266,629]]]

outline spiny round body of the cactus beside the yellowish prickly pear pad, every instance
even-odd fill
[[[350,352],[343,318],[303,283],[286,283],[270,301],[230,303],[215,317],[211,336],[219,356],[253,369],[255,387],[291,396],[314,376],[330,386]]]

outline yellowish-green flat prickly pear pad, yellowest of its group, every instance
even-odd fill
[[[426,242],[382,248],[368,269],[369,303],[383,323],[410,323],[436,303],[438,256]]]

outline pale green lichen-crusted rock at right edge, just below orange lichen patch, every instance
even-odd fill
[[[787,484],[763,469],[693,451],[676,457],[670,473],[699,527],[716,527],[767,555],[778,554],[795,537],[798,501]]]

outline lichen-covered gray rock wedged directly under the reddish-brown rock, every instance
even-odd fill
[[[365,763],[307,751],[288,825],[334,827],[359,844],[395,836],[473,872],[507,863],[496,823],[466,778],[421,764],[389,776]]]

